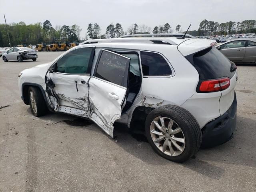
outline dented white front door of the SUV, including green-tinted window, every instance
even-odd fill
[[[46,75],[48,89],[54,99],[54,110],[89,117],[88,80],[95,47],[76,48],[60,58]],[[57,103],[54,105],[54,103]]]

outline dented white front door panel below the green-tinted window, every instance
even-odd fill
[[[89,117],[88,75],[46,74],[46,95],[54,111]]]

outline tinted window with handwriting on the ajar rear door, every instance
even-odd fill
[[[130,58],[103,50],[94,76],[127,87],[129,63]]]

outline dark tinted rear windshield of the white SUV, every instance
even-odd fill
[[[232,78],[235,74],[231,62],[215,47],[185,56],[185,58],[196,68],[200,79]]]

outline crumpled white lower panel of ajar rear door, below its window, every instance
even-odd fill
[[[126,88],[96,77],[89,81],[90,119],[113,137],[114,122],[120,119]]]

